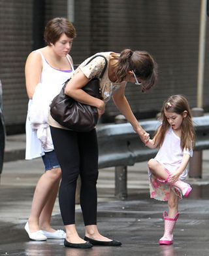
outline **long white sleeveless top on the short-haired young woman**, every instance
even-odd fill
[[[39,86],[44,86],[43,89],[48,90],[48,93],[53,99],[60,92],[61,88],[63,87],[63,83],[71,77],[72,71],[74,71],[71,59],[69,58],[69,56],[66,56],[67,60],[69,61],[69,64],[71,64],[71,70],[59,70],[50,66],[48,62],[46,62],[40,50],[35,50],[34,52],[39,52],[39,54],[42,57],[42,73],[40,77]],[[32,103],[33,100],[29,100],[27,109],[27,119],[25,124],[25,159],[33,159],[44,155],[44,149],[42,148],[41,143],[37,138],[37,132],[35,130],[32,130],[31,123],[28,117],[29,109]]]

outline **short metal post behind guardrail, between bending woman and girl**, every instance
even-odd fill
[[[116,124],[127,122],[123,115],[115,117]],[[127,198],[127,166],[115,167],[115,196],[121,200]]]

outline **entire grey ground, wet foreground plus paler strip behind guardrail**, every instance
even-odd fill
[[[204,151],[202,179],[189,178],[193,187],[180,201],[180,217],[174,229],[174,244],[159,246],[163,235],[165,202],[149,198],[146,162],[128,168],[128,198],[114,196],[114,168],[99,170],[98,227],[102,234],[122,242],[120,247],[93,246],[73,249],[63,240],[30,241],[24,225],[31,208],[35,184],[42,174],[42,162],[17,160],[5,162],[0,186],[0,255],[31,256],[206,256],[209,255],[209,151]],[[52,226],[63,229],[56,201]],[[84,236],[80,207],[76,207],[76,227]]]

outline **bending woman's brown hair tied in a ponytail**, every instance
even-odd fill
[[[142,81],[141,90],[150,90],[157,82],[157,64],[152,56],[142,50],[125,49],[120,56],[114,55],[118,59],[116,67],[116,78],[119,82],[124,81],[128,71],[133,70],[139,81]]]

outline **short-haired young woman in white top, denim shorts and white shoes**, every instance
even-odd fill
[[[29,97],[25,158],[42,156],[45,166],[45,172],[37,183],[31,213],[25,225],[31,240],[64,239],[66,236],[63,230],[55,230],[50,225],[61,179],[61,168],[48,126],[48,108],[50,101],[61,90],[63,82],[67,81],[74,71],[69,55],[74,37],[76,31],[69,20],[59,17],[50,20],[44,30],[47,46],[31,52],[25,64],[25,82]]]

